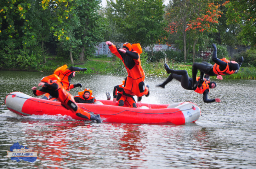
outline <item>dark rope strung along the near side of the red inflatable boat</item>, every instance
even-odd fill
[[[14,95],[14,94],[8,94],[8,95]],[[7,95],[7,96],[8,96],[8,95]],[[7,97],[7,96],[6,96],[6,97]],[[41,102],[41,101],[39,101],[39,100],[33,100],[33,99],[27,98],[27,97],[21,97],[21,96],[17,96],[17,95],[14,95],[14,96],[19,97],[19,98],[29,99],[29,100],[32,100],[32,101],[35,101],[35,102],[39,102],[39,103],[45,103],[45,104],[50,104],[50,105],[56,105],[56,104]],[[63,107],[62,105],[56,105],[56,106]],[[94,113],[94,112],[92,112],[92,111],[90,111],[90,110],[88,110],[88,109],[86,109],[86,108],[84,108],[84,107],[80,107],[80,108],[83,108],[83,109],[85,109],[86,111],[89,111],[89,112],[91,112],[91,113]],[[112,115],[117,115],[117,114],[123,113],[123,112],[125,112],[125,111],[131,111],[131,112],[141,113],[141,114],[167,114],[167,113],[173,114],[173,113],[177,113],[177,112],[179,112],[179,111],[191,110],[191,109],[193,109],[193,108],[194,108],[194,105],[193,105],[192,108],[190,108],[190,109],[178,110],[178,111],[175,111],[175,112],[172,112],[172,113],[170,113],[170,112],[166,112],[166,113],[142,113],[142,112],[138,112],[138,111],[124,110],[124,111],[120,111],[119,113],[116,113],[116,114],[99,114],[99,115],[106,115],[106,116],[109,115],[109,116],[112,116]]]

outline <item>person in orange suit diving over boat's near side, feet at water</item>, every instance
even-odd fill
[[[36,90],[37,87],[32,87],[33,93],[36,96],[42,95],[44,93],[49,93],[51,96],[55,97],[61,104],[68,110],[71,110],[75,115],[89,119],[96,120],[97,123],[101,123],[100,115],[87,113],[80,109],[80,107],[75,103],[73,96],[67,92],[60,82],[60,78],[56,74],[52,74],[47,77],[43,77],[38,86],[42,85],[40,90]]]

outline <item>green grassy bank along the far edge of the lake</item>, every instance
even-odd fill
[[[142,67],[145,71],[146,77],[168,77],[164,69],[164,60],[159,62],[147,62],[146,59],[142,59]],[[53,72],[56,68],[62,65],[72,66],[70,60],[66,62],[59,61],[57,59],[50,59],[46,64],[41,65],[40,71]],[[192,66],[185,64],[177,64],[174,62],[168,62],[167,64],[170,68],[175,70],[187,70],[189,77],[192,77]],[[73,66],[87,68],[86,74],[109,74],[109,75],[122,75],[125,76],[126,69],[120,59],[116,57],[103,57],[103,58],[89,58],[84,64],[75,64]],[[199,73],[198,73],[199,76]],[[216,77],[212,77],[214,79]],[[223,78],[229,79],[255,79],[256,78],[256,68],[255,67],[241,67],[237,74],[232,74],[231,76],[223,76]]]

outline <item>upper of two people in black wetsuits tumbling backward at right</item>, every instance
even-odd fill
[[[218,59],[217,58],[217,48],[216,45],[212,44],[214,51],[212,54],[212,61],[215,62],[214,65],[209,64],[207,62],[198,63],[195,62],[192,66],[192,74],[193,74],[193,89],[197,87],[197,72],[200,71],[200,80],[203,79],[204,74],[209,76],[217,76],[217,79],[222,80],[222,75],[230,75],[233,73],[237,73],[239,68],[241,67],[244,58],[243,56],[239,59],[239,63],[234,60],[229,61],[226,58]]]

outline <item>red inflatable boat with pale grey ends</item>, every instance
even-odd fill
[[[120,107],[118,102],[98,100],[97,104],[78,103],[84,111],[101,116],[102,122],[133,124],[183,125],[198,120],[200,108],[191,102],[174,104],[136,103],[137,108]],[[35,98],[22,92],[6,96],[6,107],[19,115],[62,115],[74,120],[87,120],[64,108],[60,102]]]

